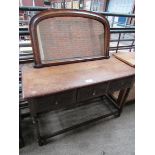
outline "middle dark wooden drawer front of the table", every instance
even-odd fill
[[[78,89],[77,101],[84,101],[89,98],[103,95],[107,92],[108,82],[100,83]]]

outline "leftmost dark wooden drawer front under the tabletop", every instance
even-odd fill
[[[76,102],[76,90],[35,98],[30,104],[33,114],[64,108]]]

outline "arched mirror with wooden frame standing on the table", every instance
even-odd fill
[[[35,67],[109,58],[110,27],[99,14],[47,10],[30,21]]]

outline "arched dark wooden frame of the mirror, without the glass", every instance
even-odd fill
[[[83,17],[90,18],[99,21],[104,26],[104,56],[93,56],[89,58],[80,58],[73,59],[61,62],[51,62],[47,64],[43,64],[40,57],[40,49],[37,35],[37,25],[39,22],[54,17]],[[39,14],[32,17],[29,25],[33,54],[34,54],[34,62],[37,68],[74,63],[74,62],[82,62],[82,61],[90,61],[90,60],[99,60],[99,59],[107,59],[109,58],[109,41],[110,41],[110,26],[108,20],[96,13],[84,11],[84,10],[71,10],[71,9],[56,9],[56,10],[46,10],[42,11]]]

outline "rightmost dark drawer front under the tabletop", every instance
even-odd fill
[[[110,84],[109,84],[108,91],[109,92],[114,92],[114,91],[117,91],[117,90],[130,88],[132,82],[133,82],[133,77],[131,77],[131,76],[111,81]]]

